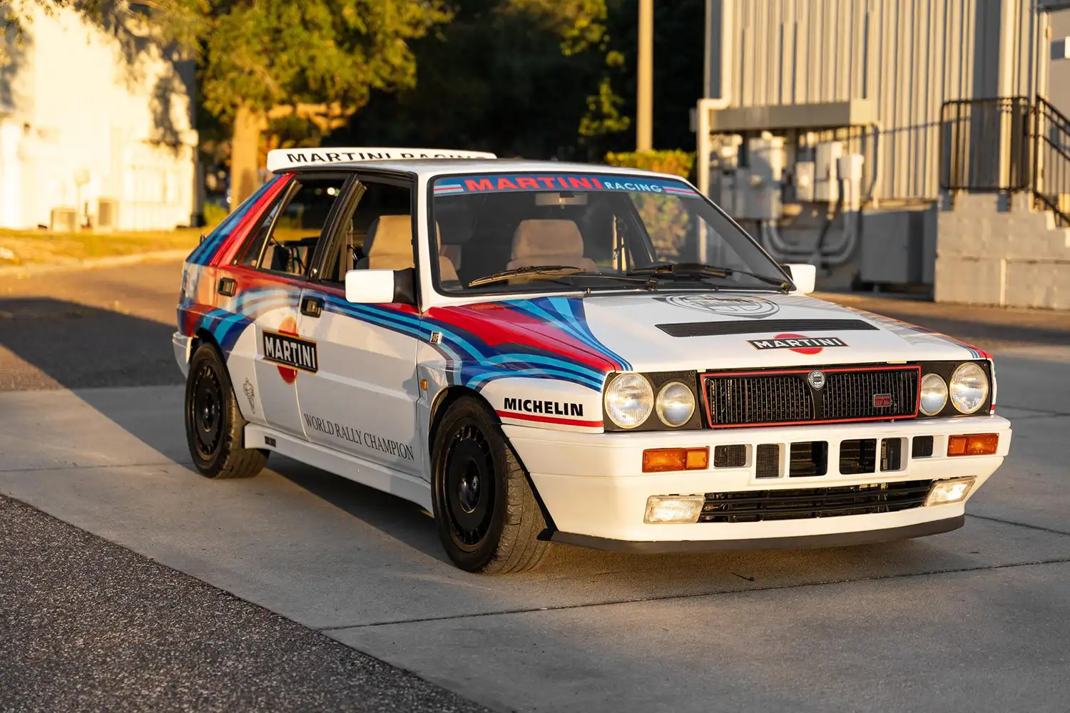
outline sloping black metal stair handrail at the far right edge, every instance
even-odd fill
[[[1070,119],[1038,96],[1034,106],[1033,197],[1070,227]]]

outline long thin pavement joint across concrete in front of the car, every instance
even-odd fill
[[[1013,523],[1012,523],[1013,524]],[[1060,533],[1061,534],[1061,533]],[[1007,570],[1018,567],[1035,567],[1038,564],[1067,564],[1070,557],[1057,559],[1038,559],[1028,562],[1008,562],[1006,564],[983,564],[978,567],[948,568],[944,570],[929,570],[926,572],[903,572],[899,574],[884,574],[872,577],[858,577],[852,579],[828,579],[825,582],[800,582],[791,585],[773,585],[768,587],[753,587],[750,589],[722,589],[709,592],[694,592],[690,594],[666,594],[663,596],[641,596],[636,599],[608,600],[605,602],[587,602],[585,604],[563,604],[561,606],[536,606],[522,607],[516,609],[500,609],[498,611],[475,611],[472,614],[444,615],[441,617],[417,617],[413,619],[397,619],[393,621],[372,621],[366,624],[349,624],[346,626],[316,626],[316,631],[323,634],[331,632],[349,631],[353,629],[372,629],[374,626],[388,626],[392,624],[419,624],[431,621],[449,621],[453,619],[479,619],[483,617],[499,617],[511,614],[534,614],[537,611],[566,611],[568,609],[584,609],[597,606],[615,606],[621,604],[640,604],[643,602],[668,602],[672,600],[698,599],[700,596],[719,596],[722,594],[750,594],[753,592],[780,591],[786,589],[802,589],[807,587],[827,587],[832,585],[846,585],[856,582],[883,582],[886,579],[908,579],[911,577],[928,577],[938,574],[959,574],[962,572],[984,572],[989,570]],[[733,572],[733,574],[735,574]],[[738,575],[736,575],[738,576]],[[744,577],[746,578],[746,577]]]

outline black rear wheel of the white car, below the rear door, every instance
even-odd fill
[[[212,344],[201,344],[189,360],[185,417],[189,455],[202,476],[251,478],[263,469],[268,451],[242,447],[246,421]]]

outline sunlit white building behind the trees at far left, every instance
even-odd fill
[[[158,230],[199,213],[194,65],[148,25],[40,7],[0,69],[0,227]]]

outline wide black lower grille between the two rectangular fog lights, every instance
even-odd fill
[[[700,523],[759,523],[869,515],[919,508],[931,480],[740,493],[706,493]]]

